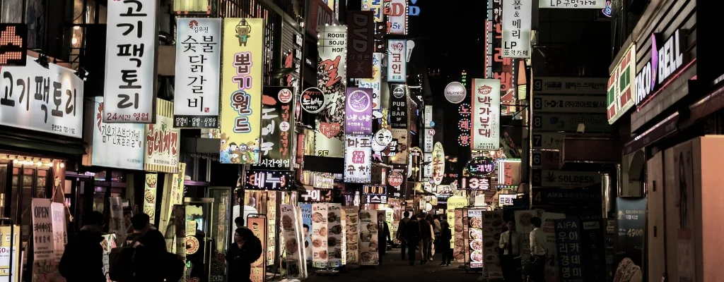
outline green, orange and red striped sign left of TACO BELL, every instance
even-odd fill
[[[636,94],[633,81],[636,81],[636,43],[628,45],[608,79],[606,113],[609,124],[615,123],[633,107],[633,95]]]

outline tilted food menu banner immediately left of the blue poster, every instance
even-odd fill
[[[302,273],[302,247],[297,232],[298,219],[292,205],[279,206],[282,211],[282,232],[284,234],[284,252],[287,261],[287,277],[303,278]]]

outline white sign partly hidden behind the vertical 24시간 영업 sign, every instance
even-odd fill
[[[93,134],[85,138],[88,153],[83,155],[83,165],[143,170],[146,129],[140,123],[104,123],[103,99],[85,102],[85,115],[94,118],[85,123],[85,130],[92,128]]]

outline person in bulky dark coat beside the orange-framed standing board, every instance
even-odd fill
[[[229,281],[251,282],[251,264],[261,257],[261,241],[251,229],[237,228],[234,243],[227,250]]]

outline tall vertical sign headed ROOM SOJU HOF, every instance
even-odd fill
[[[314,149],[321,157],[344,156],[347,26],[319,27],[317,88],[327,103],[317,114]]]

